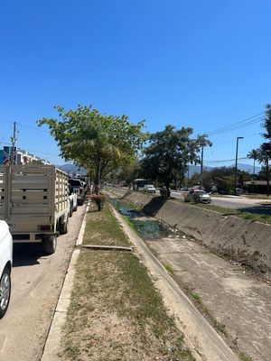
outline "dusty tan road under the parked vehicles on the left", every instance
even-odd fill
[[[0,320],[0,360],[41,360],[85,209],[73,213],[54,255],[42,255],[41,245],[14,245],[12,298]]]

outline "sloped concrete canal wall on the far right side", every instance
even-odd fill
[[[271,281],[271,226],[174,200],[114,190],[145,213],[182,230],[213,251],[248,265]]]

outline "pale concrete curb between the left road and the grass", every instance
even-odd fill
[[[83,236],[87,223],[87,213],[89,211],[89,203],[86,208],[86,212],[82,221],[82,225],[79,230],[79,236],[76,241],[76,246],[81,245],[83,242]],[[51,320],[51,327],[47,335],[41,361],[52,361],[56,358],[61,345],[61,329],[65,324],[67,312],[70,306],[70,294],[72,292],[73,281],[75,276],[75,266],[80,254],[80,250],[77,248],[72,252],[70,258],[70,264],[68,266],[67,273],[64,278],[64,282],[61,289],[59,301],[54,310],[54,315]]]

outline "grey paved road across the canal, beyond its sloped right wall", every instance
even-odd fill
[[[183,193],[172,191],[171,196],[183,200]],[[271,199],[246,199],[244,197],[212,197],[211,203],[221,208],[240,209],[244,212],[271,214]],[[268,204],[269,203],[269,204]]]

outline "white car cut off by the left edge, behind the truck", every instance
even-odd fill
[[[0,319],[5,316],[11,295],[13,238],[4,220],[0,220]]]

